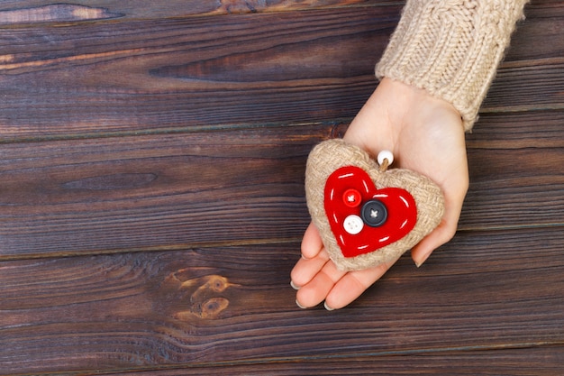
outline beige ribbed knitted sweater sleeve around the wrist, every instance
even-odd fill
[[[376,67],[459,110],[469,131],[528,0],[407,0]]]

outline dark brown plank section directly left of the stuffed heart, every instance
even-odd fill
[[[0,254],[295,237],[309,221],[305,159],[329,131],[309,126],[4,145]]]

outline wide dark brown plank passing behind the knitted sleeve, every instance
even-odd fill
[[[350,120],[400,9],[215,17],[214,32],[209,17],[8,28],[1,139]],[[561,5],[532,8],[483,112],[563,108],[563,17]],[[531,30],[552,42],[539,49]]]

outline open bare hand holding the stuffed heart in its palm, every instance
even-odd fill
[[[456,233],[468,190],[464,128],[458,111],[422,89],[384,78],[343,138],[372,157],[379,151],[392,151],[394,167],[418,172],[441,187],[445,198],[441,224],[411,252],[415,264],[421,266],[433,250]],[[327,309],[345,307],[394,262],[363,271],[339,271],[317,229],[310,224],[302,240],[302,258],[291,273],[292,285],[298,289],[296,303],[314,307],[324,300]]]

